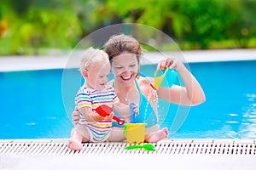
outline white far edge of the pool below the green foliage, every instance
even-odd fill
[[[239,61],[256,59],[256,48],[252,49],[221,49],[221,50],[194,50],[183,52],[166,52],[166,56],[177,56],[183,62],[212,62],[212,61]],[[164,59],[159,53],[145,53],[146,61],[143,64],[157,63]],[[69,54],[58,56],[2,56],[0,57],[0,71],[27,71],[44,69],[66,68],[70,62]],[[77,62],[76,64],[79,64]],[[76,65],[75,64],[75,65]],[[78,65],[77,65],[78,66]]]

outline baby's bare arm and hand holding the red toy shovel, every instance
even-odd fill
[[[84,119],[88,122],[100,122],[102,120],[112,120],[113,113],[111,113],[109,116],[102,117],[96,112],[93,112],[91,110],[91,107],[85,106],[81,107],[79,111],[83,114]]]

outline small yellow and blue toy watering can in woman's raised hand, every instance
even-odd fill
[[[163,82],[164,77],[168,80],[168,88],[172,87],[172,84],[175,82],[177,77],[177,71],[170,69],[169,67],[166,68],[166,71],[160,76],[157,76],[157,72],[159,70],[154,71],[154,83],[151,83],[150,86],[157,90],[160,87],[161,82]]]

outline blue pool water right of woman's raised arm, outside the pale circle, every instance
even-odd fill
[[[211,62],[190,68],[207,101],[190,109],[176,137],[255,139],[256,61]]]

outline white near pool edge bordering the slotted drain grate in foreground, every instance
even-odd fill
[[[181,144],[191,141],[192,144],[251,144],[253,146],[253,152],[255,152],[255,141],[253,139],[165,139],[160,143],[173,143]],[[47,142],[47,140],[40,139],[23,139],[21,142],[27,142],[32,144],[39,142]],[[8,142],[1,141],[1,142]],[[17,140],[10,141],[10,143],[18,142]],[[48,140],[50,143],[65,143],[67,139]],[[40,145],[39,145],[40,147]],[[117,146],[118,147],[118,146]],[[224,146],[225,147],[225,146]],[[221,147],[224,150],[224,147]],[[247,147],[244,145],[243,147]],[[177,148],[178,149],[178,148]],[[246,148],[244,148],[246,149]],[[179,169],[179,170],[219,170],[219,169],[232,169],[232,170],[255,170],[256,169],[256,156],[239,154],[137,154],[137,150],[131,151],[127,154],[75,154],[70,153],[65,156],[61,155],[8,155],[0,153],[0,169],[8,170],[20,170],[20,169],[61,169],[70,170],[75,168],[86,168],[86,169]]]

